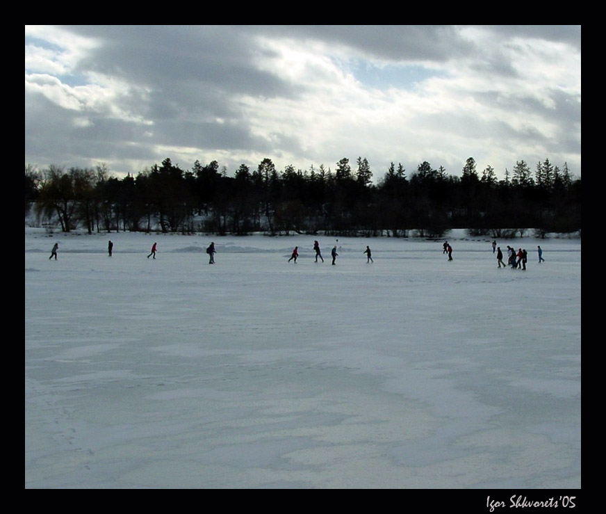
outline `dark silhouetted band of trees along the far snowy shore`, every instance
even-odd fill
[[[25,167],[26,216],[57,220],[64,232],[161,231],[212,234],[317,234],[440,237],[453,228],[513,236],[524,227],[581,230],[581,179],[549,159],[531,170],[517,161],[505,178],[467,159],[460,176],[424,161],[407,173],[394,163],[372,182],[367,159],[343,158],[331,170],[286,166],[271,159],[228,176],[218,161],[183,170],[165,159],[119,179],[107,166],[37,170]]]

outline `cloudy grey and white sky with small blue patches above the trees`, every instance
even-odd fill
[[[581,175],[573,25],[25,26],[25,163]]]

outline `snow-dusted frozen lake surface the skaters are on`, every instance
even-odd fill
[[[26,228],[26,488],[580,488],[580,239],[448,240]]]

